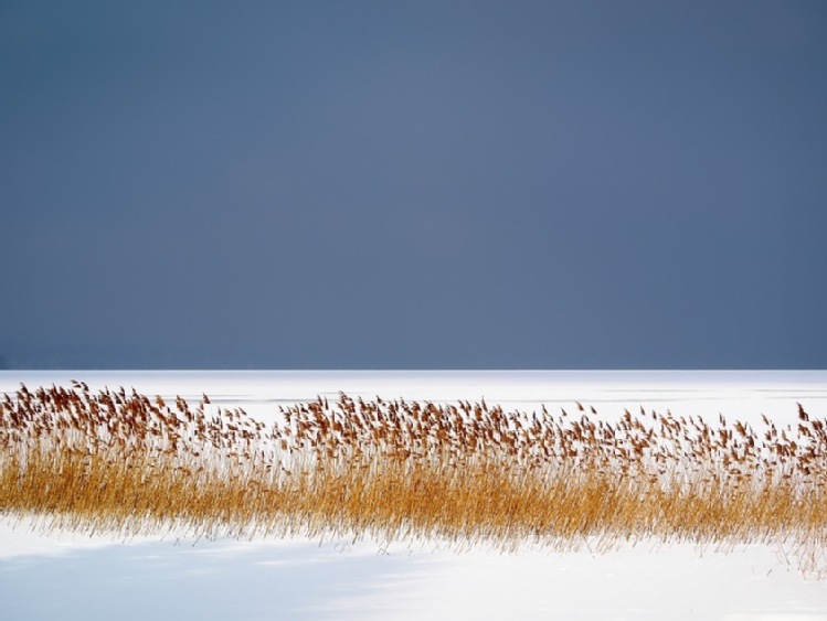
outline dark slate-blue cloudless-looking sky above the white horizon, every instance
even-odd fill
[[[827,4],[0,2],[10,368],[826,368]]]

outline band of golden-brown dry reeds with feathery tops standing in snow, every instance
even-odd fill
[[[278,418],[206,396],[21,386],[0,401],[0,514],[126,535],[783,542],[810,565],[827,549],[827,420],[801,406],[795,424],[754,429],[340,394]]]

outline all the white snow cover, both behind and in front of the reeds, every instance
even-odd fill
[[[243,407],[336,397],[453,403],[532,411],[624,407],[786,422],[801,403],[827,415],[825,372],[0,372],[0,393],[68,385]],[[44,532],[0,520],[0,619],[728,619],[825,620],[827,577],[804,576],[782,543],[701,549],[638,542],[503,554],[441,542],[195,540]]]

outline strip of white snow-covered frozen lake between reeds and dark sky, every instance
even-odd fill
[[[264,417],[279,405],[335,399],[340,390],[365,399],[485,398],[528,411],[575,401],[606,415],[643,406],[676,415],[793,416],[796,403],[827,411],[827,371],[0,371],[0,393],[72,379],[165,398],[206,394],[213,404]]]

